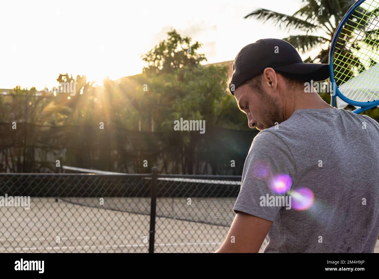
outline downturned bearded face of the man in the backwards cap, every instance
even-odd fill
[[[257,128],[259,131],[273,127],[275,122],[282,122],[279,100],[270,96],[264,87],[263,91],[258,93],[245,84],[239,86],[234,92],[238,107],[247,115],[249,127]]]

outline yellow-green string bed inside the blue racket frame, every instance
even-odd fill
[[[379,73],[375,69],[379,57],[378,7],[375,0],[363,2],[346,21],[336,41],[334,77],[338,86],[344,82],[349,85],[342,93],[354,101],[370,95],[379,97]]]

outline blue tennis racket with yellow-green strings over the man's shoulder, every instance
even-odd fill
[[[359,0],[342,18],[329,52],[335,97],[361,113],[379,105],[379,0]]]

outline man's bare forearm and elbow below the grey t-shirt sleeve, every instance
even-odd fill
[[[271,221],[238,212],[226,240],[215,253],[258,253],[272,224]]]

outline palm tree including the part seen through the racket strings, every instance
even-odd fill
[[[257,9],[244,18],[271,20],[279,28],[299,32],[299,35],[283,39],[301,52],[321,49],[316,57],[309,57],[304,62],[327,64],[335,30],[342,17],[355,2],[355,0],[302,0],[302,7],[292,16],[267,9]],[[379,28],[377,27],[379,8],[373,7],[370,13],[366,13],[367,10],[362,7],[357,8],[349,16],[348,24],[344,25],[343,32],[338,35],[333,54],[334,77],[338,86],[379,62],[378,59],[365,60],[364,54],[369,48],[376,53],[376,57],[379,57]],[[365,47],[361,50],[363,45]],[[320,96],[326,102],[330,101],[329,94],[320,92]],[[379,119],[379,108],[367,110],[363,114]]]

